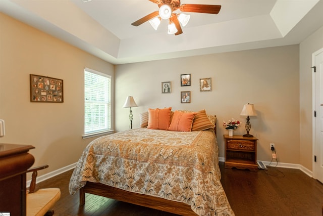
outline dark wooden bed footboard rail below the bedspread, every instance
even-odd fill
[[[145,194],[133,193],[119,188],[103,185],[101,183],[92,182],[87,182],[84,187],[80,188],[80,205],[85,204],[85,193],[180,214],[183,216],[197,215],[186,203],[171,201]]]

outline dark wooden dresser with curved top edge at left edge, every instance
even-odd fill
[[[26,171],[35,159],[35,147],[0,143],[0,212],[26,215]]]

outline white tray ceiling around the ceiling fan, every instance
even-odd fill
[[[134,21],[158,10],[148,0],[0,0],[0,12],[113,64],[299,44],[323,26],[323,0],[182,0],[221,5],[191,15],[183,34]]]

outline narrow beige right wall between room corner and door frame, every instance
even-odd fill
[[[312,170],[312,53],[323,48],[323,27],[300,44],[300,163]]]

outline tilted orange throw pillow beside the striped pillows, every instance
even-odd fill
[[[172,119],[172,123],[168,128],[169,131],[182,131],[188,132],[192,129],[193,119],[196,112],[180,112],[175,111]]]

